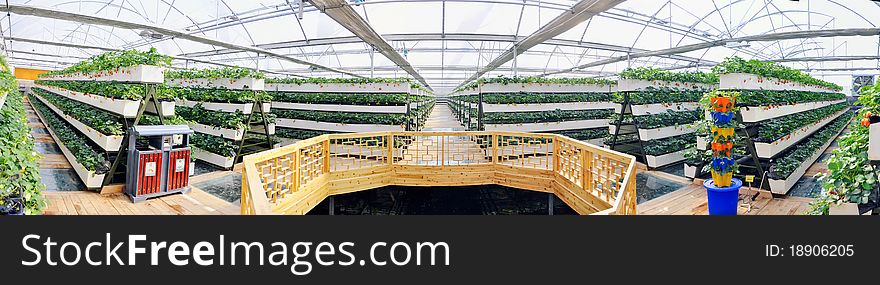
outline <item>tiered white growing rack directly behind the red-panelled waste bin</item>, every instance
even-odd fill
[[[87,188],[124,178],[117,174],[124,173],[131,126],[174,115],[174,102],[159,94],[164,71],[134,65],[46,75],[32,88],[37,115]],[[163,116],[146,117],[145,111]]]

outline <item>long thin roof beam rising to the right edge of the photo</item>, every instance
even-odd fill
[[[705,43],[684,45],[684,46],[662,49],[662,50],[633,53],[633,54],[629,54],[626,56],[620,56],[620,57],[610,58],[610,59],[606,59],[606,60],[600,60],[600,61],[595,61],[595,62],[591,62],[591,63],[587,63],[587,64],[582,64],[582,65],[575,66],[575,67],[572,67],[569,69],[565,69],[565,70],[562,70],[559,72],[544,73],[544,74],[541,74],[541,76],[547,76],[547,75],[553,75],[553,74],[559,74],[559,73],[569,73],[569,72],[577,70],[577,69],[590,68],[590,67],[594,67],[594,66],[602,66],[602,65],[606,65],[606,64],[626,61],[626,60],[632,59],[632,58],[663,56],[663,55],[686,53],[686,52],[691,52],[691,51],[695,51],[695,50],[723,46],[727,43],[779,41],[779,40],[804,39],[804,38],[823,38],[823,37],[877,36],[877,35],[880,35],[880,28],[809,30],[809,31],[781,32],[781,33],[756,35],[756,36],[744,36],[744,37],[738,37],[738,38],[715,40],[715,41],[705,42]]]

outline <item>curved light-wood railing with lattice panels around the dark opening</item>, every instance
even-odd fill
[[[250,209],[243,209],[242,213],[272,213],[273,204],[291,203],[291,194],[312,194],[301,193],[306,189],[326,190],[312,182],[322,177],[332,179],[333,176],[325,174],[337,171],[385,165],[450,166],[454,171],[454,166],[493,163],[555,172],[551,175],[555,179],[566,179],[578,186],[569,191],[582,197],[593,196],[612,206],[600,214],[636,212],[632,156],[547,134],[386,132],[325,135],[245,157],[242,207]],[[624,183],[626,187],[622,187]],[[297,209],[308,209],[311,204],[300,206]]]

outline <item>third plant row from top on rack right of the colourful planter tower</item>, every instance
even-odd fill
[[[758,142],[776,141],[797,129],[819,122],[847,108],[849,108],[849,103],[841,102],[761,122],[758,126],[758,135],[754,140]]]

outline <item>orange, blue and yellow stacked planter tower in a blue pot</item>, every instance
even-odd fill
[[[742,181],[733,178],[737,171],[733,155],[736,137],[736,97],[738,92],[713,91],[706,94],[704,106],[712,118],[712,160],[709,170],[712,179],[706,180],[703,187],[707,191],[710,215],[736,215],[739,188]]]

